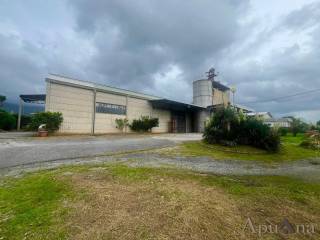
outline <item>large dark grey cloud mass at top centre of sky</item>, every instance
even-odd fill
[[[141,89],[156,88],[153,75],[171,64],[178,65],[190,82],[199,76],[206,60],[236,39],[238,18],[248,3],[97,0],[70,4],[78,28],[94,36],[98,54],[91,67],[113,84]],[[116,36],[110,38],[110,31]]]

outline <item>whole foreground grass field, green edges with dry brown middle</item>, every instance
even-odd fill
[[[320,222],[320,183],[123,165],[64,167],[4,179],[0,239],[284,239],[244,230]],[[316,229],[317,230],[317,229]],[[291,234],[289,239],[319,239]]]

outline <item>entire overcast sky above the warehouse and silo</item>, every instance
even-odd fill
[[[212,66],[237,103],[320,119],[320,1],[1,0],[9,101],[57,73],[191,102]]]

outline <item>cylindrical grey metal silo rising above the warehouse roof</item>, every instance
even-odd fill
[[[193,82],[193,104],[201,107],[212,105],[212,81],[210,79]]]

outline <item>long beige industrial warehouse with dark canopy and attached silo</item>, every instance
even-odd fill
[[[193,82],[193,104],[55,74],[46,84],[45,110],[63,114],[61,133],[119,133],[117,118],[141,116],[159,119],[154,133],[202,132],[210,111],[230,104],[230,89],[212,79]]]

